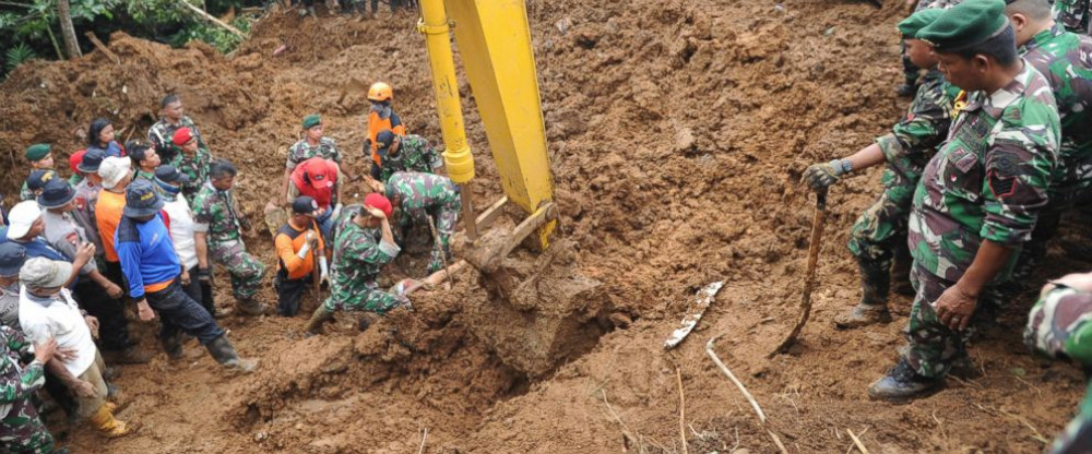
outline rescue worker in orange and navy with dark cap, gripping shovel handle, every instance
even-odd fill
[[[277,255],[273,287],[276,288],[277,313],[281,316],[294,316],[299,312],[299,300],[312,283],[316,256],[319,259],[319,278],[327,279],[325,241],[314,222],[318,211],[319,204],[314,199],[307,195],[296,198],[292,202],[292,217],[273,239]]]

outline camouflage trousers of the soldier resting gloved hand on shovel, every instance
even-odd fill
[[[883,167],[883,192],[866,208],[850,229],[850,252],[858,259],[886,264],[890,268],[897,250],[905,248],[906,223],[914,202],[914,190],[925,162],[901,158]]]

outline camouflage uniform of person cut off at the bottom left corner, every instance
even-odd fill
[[[46,382],[45,367],[20,359],[31,343],[11,326],[0,326],[0,449],[12,453],[51,453],[54,437],[38,417],[32,397]]]

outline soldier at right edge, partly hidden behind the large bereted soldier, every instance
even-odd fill
[[[1061,142],[1049,204],[1024,246],[1013,280],[1024,283],[1046,255],[1065,211],[1088,203],[1092,187],[1092,38],[1066,32],[1051,15],[1049,0],[1018,0],[1005,7],[1017,29],[1020,55],[1046,76],[1058,104]]]

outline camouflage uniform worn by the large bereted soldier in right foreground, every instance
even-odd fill
[[[1030,64],[1006,87],[992,95],[974,92],[968,100],[948,142],[925,167],[910,215],[917,296],[906,327],[906,360],[927,378],[947,374],[964,351],[964,334],[942,325],[931,304],[963,276],[983,240],[1016,249],[994,282],[1008,277],[1046,206],[1057,160],[1054,95]]]

